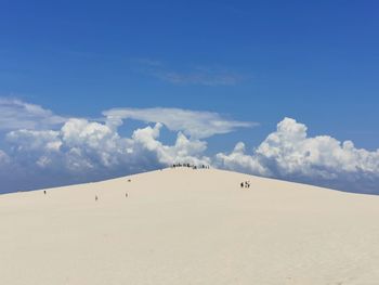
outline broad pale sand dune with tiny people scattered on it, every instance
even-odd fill
[[[0,284],[379,284],[379,197],[192,169],[0,195]]]

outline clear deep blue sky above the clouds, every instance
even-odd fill
[[[208,156],[239,141],[258,147],[285,117],[312,138],[373,153],[378,10],[377,1],[337,0],[2,1],[0,96],[89,120],[167,107],[259,124],[206,138]],[[142,125],[128,120],[118,133]],[[174,143],[175,131],[164,128],[160,141]],[[0,141],[11,158],[12,147]]]

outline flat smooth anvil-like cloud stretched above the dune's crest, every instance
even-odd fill
[[[257,122],[236,121],[222,118],[218,113],[196,112],[181,108],[113,108],[103,112],[109,125],[120,125],[122,119],[164,124],[171,131],[182,131],[195,139],[228,133],[237,128],[249,128]]]

